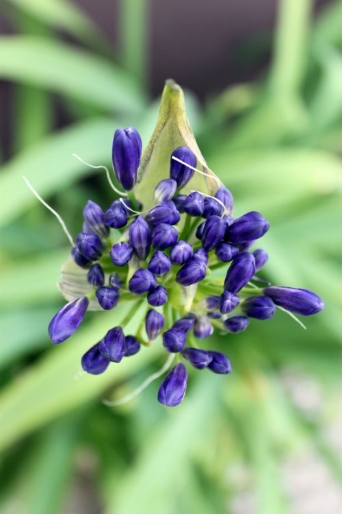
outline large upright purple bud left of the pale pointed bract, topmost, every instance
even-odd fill
[[[142,140],[135,128],[115,131],[111,156],[118,182],[126,191],[131,191],[137,180],[142,156]]]

